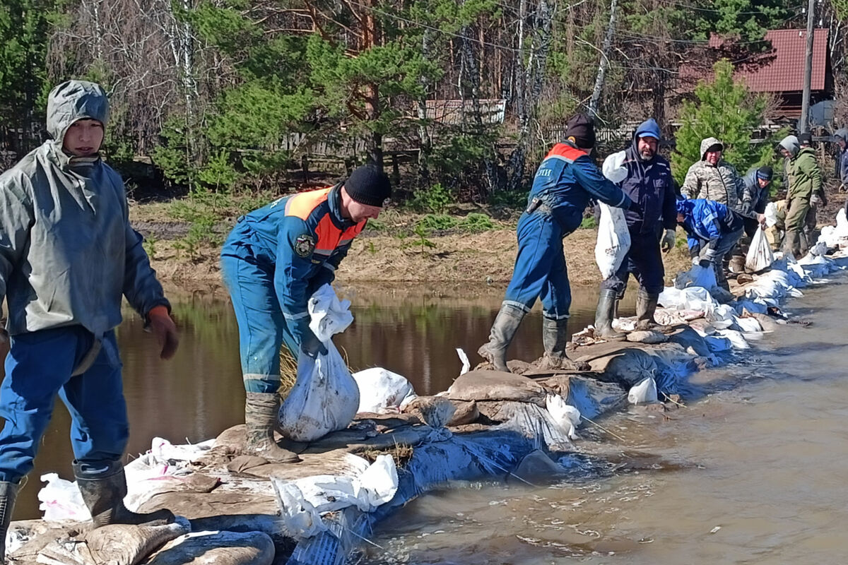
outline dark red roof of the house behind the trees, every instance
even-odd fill
[[[770,30],[766,40],[772,42],[773,51],[767,57],[773,60],[763,66],[737,65],[735,77],[745,80],[754,92],[790,92],[804,89],[806,64],[806,30]],[[820,28],[812,35],[811,90],[824,90],[824,76],[828,58],[828,30]]]

